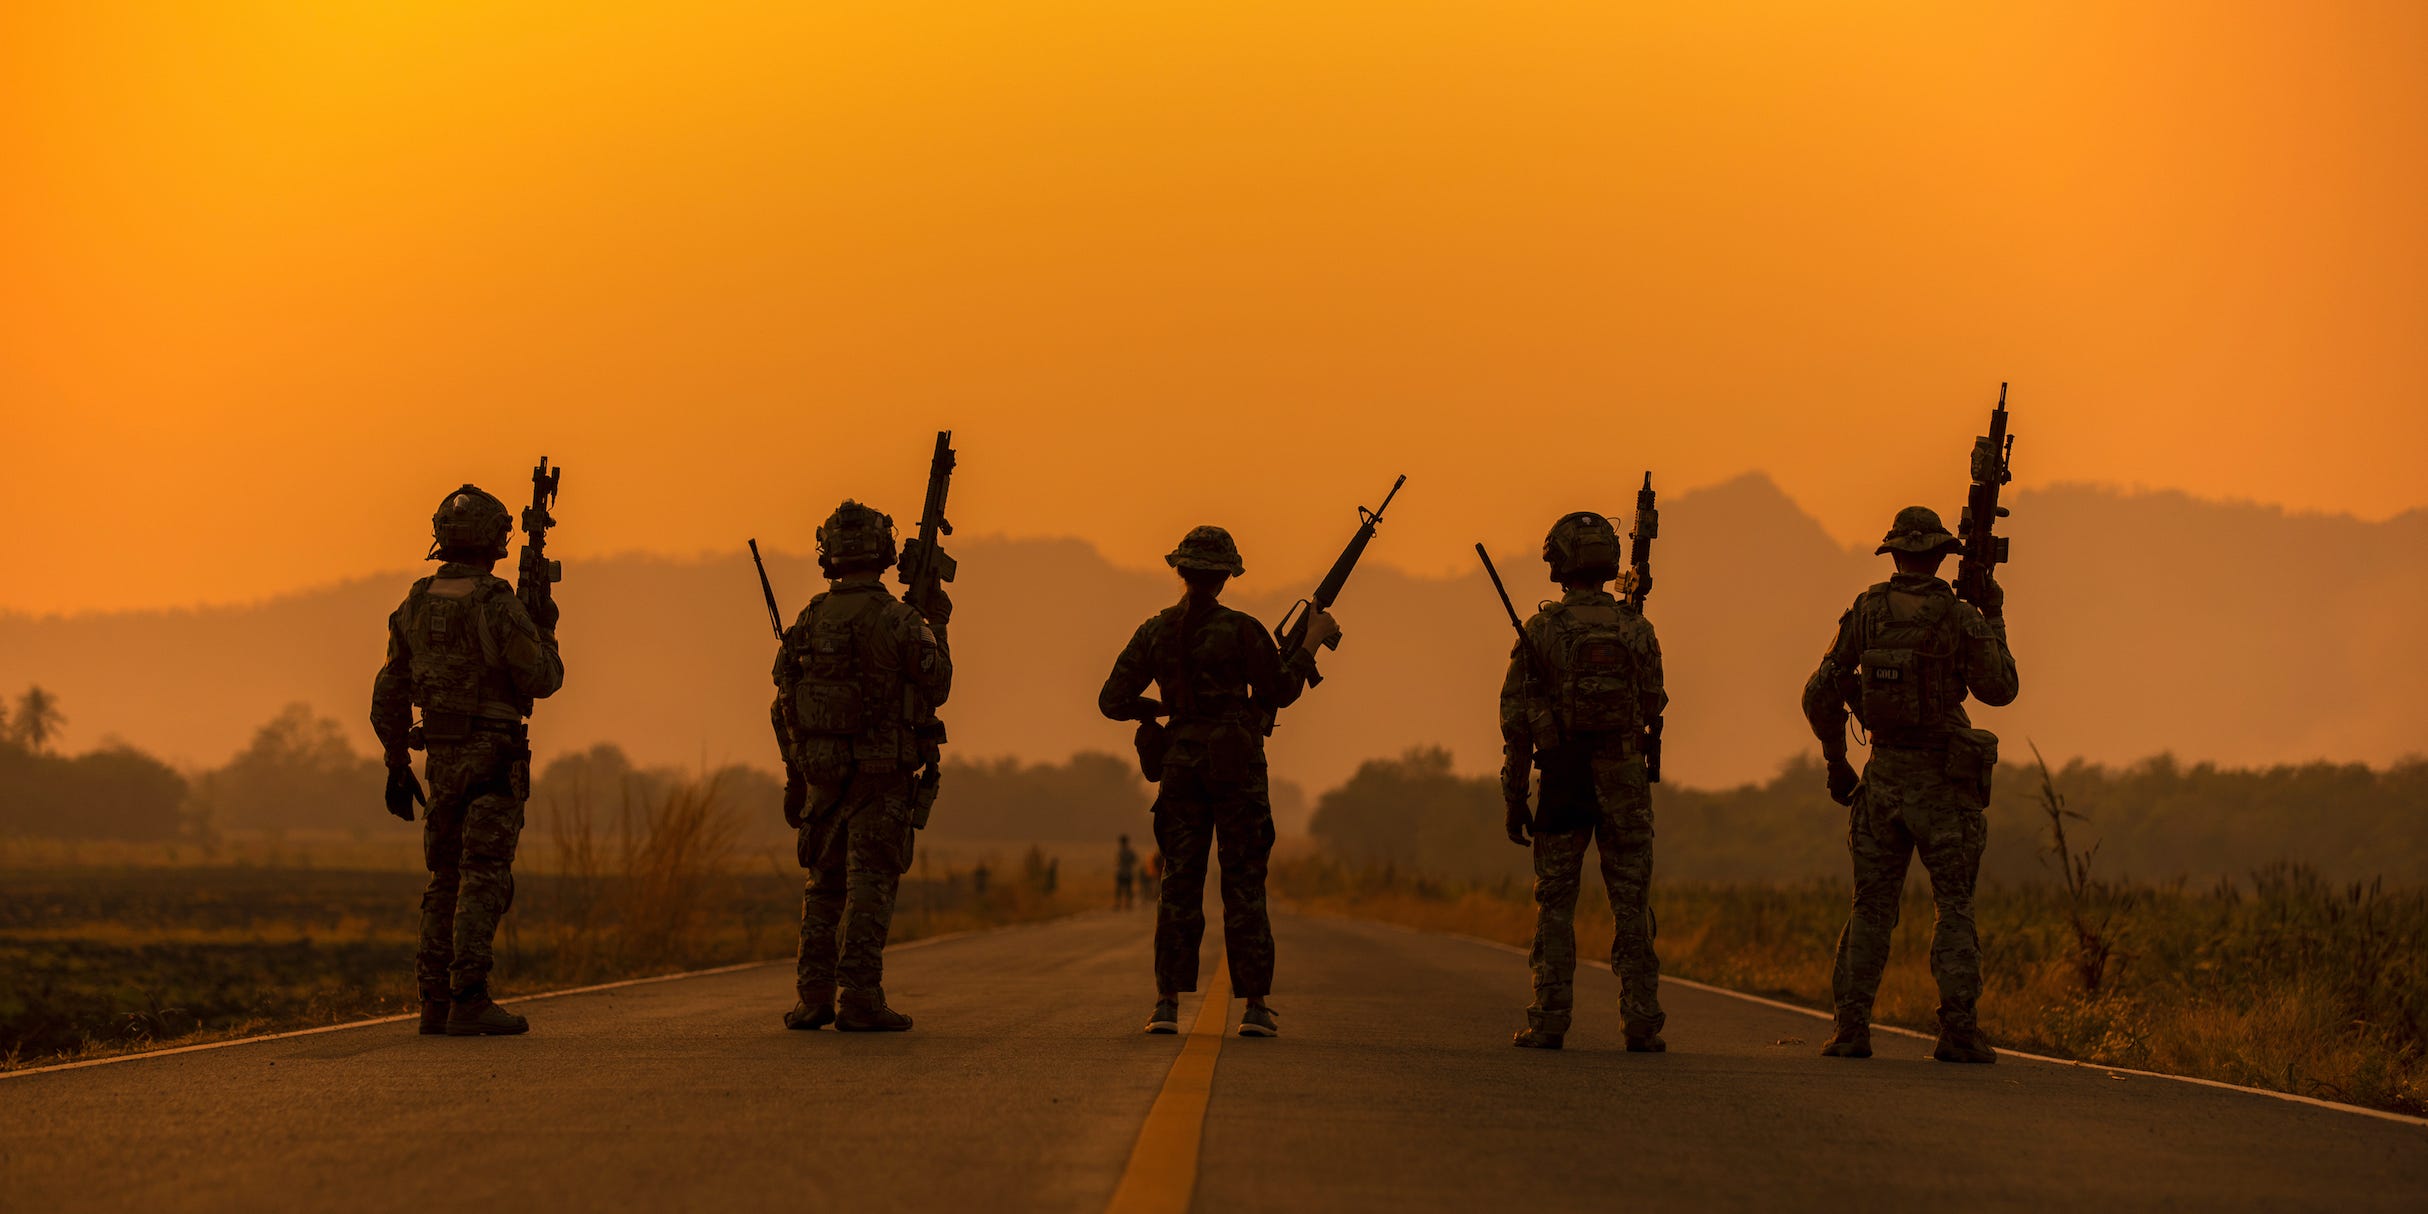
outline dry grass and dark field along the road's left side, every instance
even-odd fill
[[[588,792],[532,809],[539,830],[524,835],[495,944],[503,1000],[794,952],[801,869],[736,845],[714,777],[658,796],[619,789],[612,809]],[[19,843],[0,867],[0,1071],[418,1008],[420,872],[63,860]],[[1097,901],[1034,872],[991,877],[981,891],[969,869],[915,860],[891,940]]]

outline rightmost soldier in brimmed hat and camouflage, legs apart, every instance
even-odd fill
[[[2006,590],[1986,580],[1981,602],[1962,602],[1940,580],[1940,563],[1962,549],[1933,510],[1899,510],[1877,549],[1896,561],[1896,575],[1855,595],[1804,685],[1804,719],[1828,760],[1828,794],[1850,806],[1855,857],[1855,910],[1831,971],[1838,1032],[1821,1049],[1833,1059],[1872,1056],[1872,1000],[1889,964],[1906,864],[1921,852],[1938,906],[1930,976],[1940,983],[1940,1042],[1930,1056],[1998,1061],[1974,1008],[1981,998],[1974,881],[1989,838],[1981,811],[1998,736],[1972,728],[1964,694],[2013,704],[2015,656],[2006,648]],[[1870,731],[1872,758],[1860,777],[1845,758],[1848,711]]]

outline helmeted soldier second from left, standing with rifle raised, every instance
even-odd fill
[[[891,517],[855,500],[838,505],[818,527],[828,590],[801,607],[775,658],[784,823],[809,869],[799,1003],[784,1012],[787,1029],[910,1027],[886,1005],[884,952],[910,835],[935,796],[918,772],[940,758],[935,709],[952,692],[952,600],[942,583],[930,602],[894,597],[881,578],[896,556]]]

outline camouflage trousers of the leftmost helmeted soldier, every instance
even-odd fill
[[[515,906],[515,843],[532,796],[532,750],[505,733],[430,743],[422,818],[422,944],[413,978],[425,1000],[488,981],[498,920]]]

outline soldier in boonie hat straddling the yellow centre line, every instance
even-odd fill
[[[1221,862],[1221,930],[1231,986],[1248,1000],[1241,1037],[1275,1037],[1272,920],[1265,864],[1272,857],[1272,801],[1265,787],[1265,721],[1287,709],[1316,673],[1316,648],[1340,636],[1314,612],[1309,641],[1282,665],[1272,634],[1216,602],[1246,573],[1231,532],[1197,527],[1165,558],[1182,597],[1153,614],[1112,663],[1097,709],[1139,721],[1139,765],[1156,779],[1156,845],[1170,864],[1156,901],[1156,1010],[1146,1032],[1180,1032],[1180,993],[1197,991],[1204,940],[1207,850]],[[1156,685],[1163,699],[1144,692]],[[1170,724],[1161,724],[1161,719]]]

